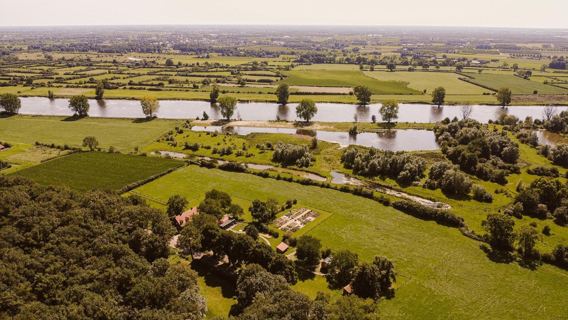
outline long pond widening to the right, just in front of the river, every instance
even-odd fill
[[[440,148],[440,144],[436,142],[434,132],[429,130],[388,130],[382,132],[362,132],[357,135],[350,135],[347,132],[269,127],[193,126],[191,130],[231,132],[240,135],[248,135],[254,132],[298,134],[315,136],[320,140],[336,142],[344,146],[357,144],[359,146],[391,151],[433,150]]]

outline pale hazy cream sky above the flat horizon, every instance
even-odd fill
[[[334,24],[568,28],[568,0],[0,0],[0,26]]]

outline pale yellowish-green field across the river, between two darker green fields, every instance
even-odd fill
[[[365,71],[364,73],[378,80],[408,82],[408,88],[419,91],[426,89],[428,94],[432,94],[434,88],[438,86],[443,86],[446,89],[446,94],[483,94],[490,92],[490,90],[483,89],[480,86],[458,80],[458,77],[462,76],[453,72]]]

